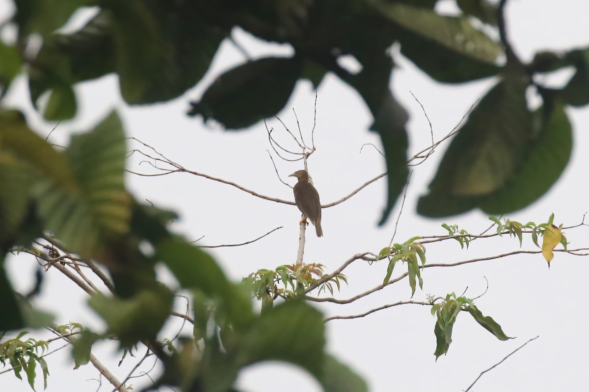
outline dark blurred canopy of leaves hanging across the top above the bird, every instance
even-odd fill
[[[440,217],[477,207],[511,212],[544,195],[570,159],[564,109],[589,103],[589,49],[538,52],[524,64],[505,53],[508,41],[494,38],[491,30],[502,26],[497,4],[455,2],[459,12],[448,16],[437,12],[436,0],[15,0],[11,22],[18,36],[15,42],[0,42],[0,89],[4,94],[22,70],[35,107],[49,95],[39,108],[45,118],[70,119],[77,112],[72,87],[110,73],[118,75],[121,94],[131,105],[183,95],[201,81],[235,28],[290,45],[292,56],[248,59],[218,76],[190,103],[188,115],[213,119],[228,130],[247,128],[282,110],[297,80],[307,79],[317,88],[326,72],[335,73],[365,100],[374,118],[370,129],[383,143],[388,169],[384,223],[408,175],[408,116],[388,87],[395,66],[389,48],[399,43],[401,54],[436,81],[499,79],[459,129],[430,193],[419,202],[419,213]],[[79,9],[90,15],[85,24],[60,31]],[[38,53],[26,50],[31,35],[42,37]],[[503,62],[506,54],[510,61]],[[344,55],[355,57],[361,71],[341,68],[337,59]],[[560,89],[534,79],[571,66],[574,76]],[[526,105],[528,89],[544,101],[538,112]],[[551,160],[547,172],[540,172],[540,159]]]

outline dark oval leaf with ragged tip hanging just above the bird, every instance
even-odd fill
[[[188,115],[213,118],[227,129],[254,125],[284,108],[302,69],[299,58],[279,57],[237,66],[219,76]]]

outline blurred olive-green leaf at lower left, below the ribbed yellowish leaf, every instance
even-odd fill
[[[166,286],[151,287],[128,299],[93,295],[88,303],[108,324],[108,332],[117,335],[121,347],[140,340],[155,339],[170,315],[174,296]]]

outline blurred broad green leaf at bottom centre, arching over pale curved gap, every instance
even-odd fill
[[[287,301],[267,309],[240,337],[237,363],[282,360],[320,377],[324,334],[323,317],[319,311],[303,301]]]

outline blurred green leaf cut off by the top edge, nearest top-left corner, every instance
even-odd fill
[[[15,0],[14,19],[22,38],[32,32],[48,35],[63,26],[78,8],[97,3],[93,0]]]

